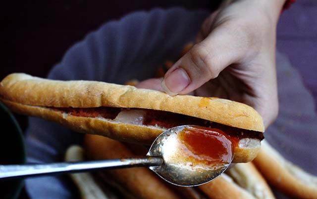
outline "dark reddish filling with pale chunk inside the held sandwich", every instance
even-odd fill
[[[198,125],[214,129],[220,129],[230,137],[238,139],[254,138],[263,140],[262,132],[236,128],[206,119],[195,118],[167,111],[139,109],[139,108],[117,108],[117,107],[95,107],[95,108],[55,108],[47,107],[63,114],[76,117],[110,119],[114,122],[129,123],[135,125],[155,126],[163,129],[181,125]]]

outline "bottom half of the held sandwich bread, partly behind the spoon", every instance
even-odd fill
[[[110,119],[72,116],[49,108],[28,106],[7,100],[3,100],[3,103],[19,114],[51,120],[76,132],[102,135],[123,142],[151,145],[157,136],[165,130],[156,126],[119,123]],[[260,140],[241,139],[238,147],[234,148],[232,162],[252,161],[258,155],[260,149]]]

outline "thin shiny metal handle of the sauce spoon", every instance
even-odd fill
[[[163,159],[161,158],[146,157],[127,159],[106,159],[82,162],[0,165],[0,180],[47,174],[75,173],[98,169],[117,169],[137,166],[159,166],[162,163]]]

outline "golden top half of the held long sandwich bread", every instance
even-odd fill
[[[261,116],[242,103],[164,92],[98,81],[61,81],[11,74],[0,83],[0,98],[46,107],[124,107],[168,111],[217,123],[264,132]]]

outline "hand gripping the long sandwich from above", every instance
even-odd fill
[[[267,127],[278,112],[275,37],[283,3],[226,1],[206,19],[197,44],[163,80],[145,80],[137,86],[242,102],[255,108]]]

